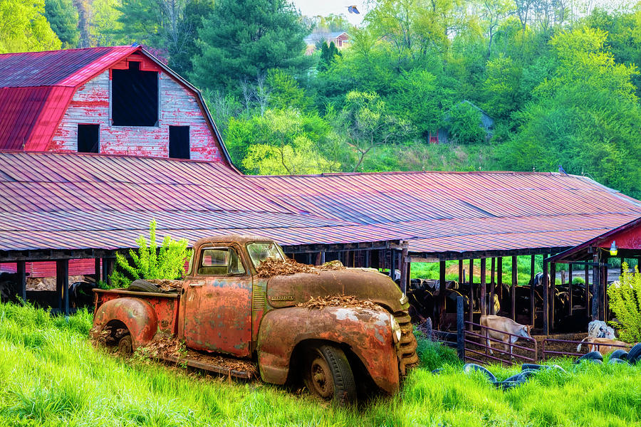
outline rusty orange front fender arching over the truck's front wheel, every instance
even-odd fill
[[[284,384],[296,345],[306,340],[345,344],[387,393],[399,389],[398,359],[390,313],[345,307],[279,308],[267,312],[258,335],[261,378]]]

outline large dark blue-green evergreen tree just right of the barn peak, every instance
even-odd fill
[[[308,62],[308,28],[285,0],[217,1],[203,22],[192,78],[205,88],[237,90],[239,81],[271,68],[299,70]]]

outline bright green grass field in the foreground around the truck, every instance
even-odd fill
[[[509,391],[466,376],[449,349],[420,342],[402,392],[333,408],[259,381],[199,376],[94,349],[91,317],[0,305],[2,426],[635,426],[641,367],[561,362]],[[444,367],[440,375],[430,373]],[[500,378],[511,370],[492,368]]]

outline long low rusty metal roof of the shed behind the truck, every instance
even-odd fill
[[[641,216],[583,176],[398,172],[242,176],[224,164],[0,152],[0,250],[126,248],[253,233],[283,245],[407,240],[413,253],[567,248]]]

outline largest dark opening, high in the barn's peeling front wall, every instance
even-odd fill
[[[111,118],[114,126],[155,126],[158,122],[158,73],[129,70],[111,72]]]

